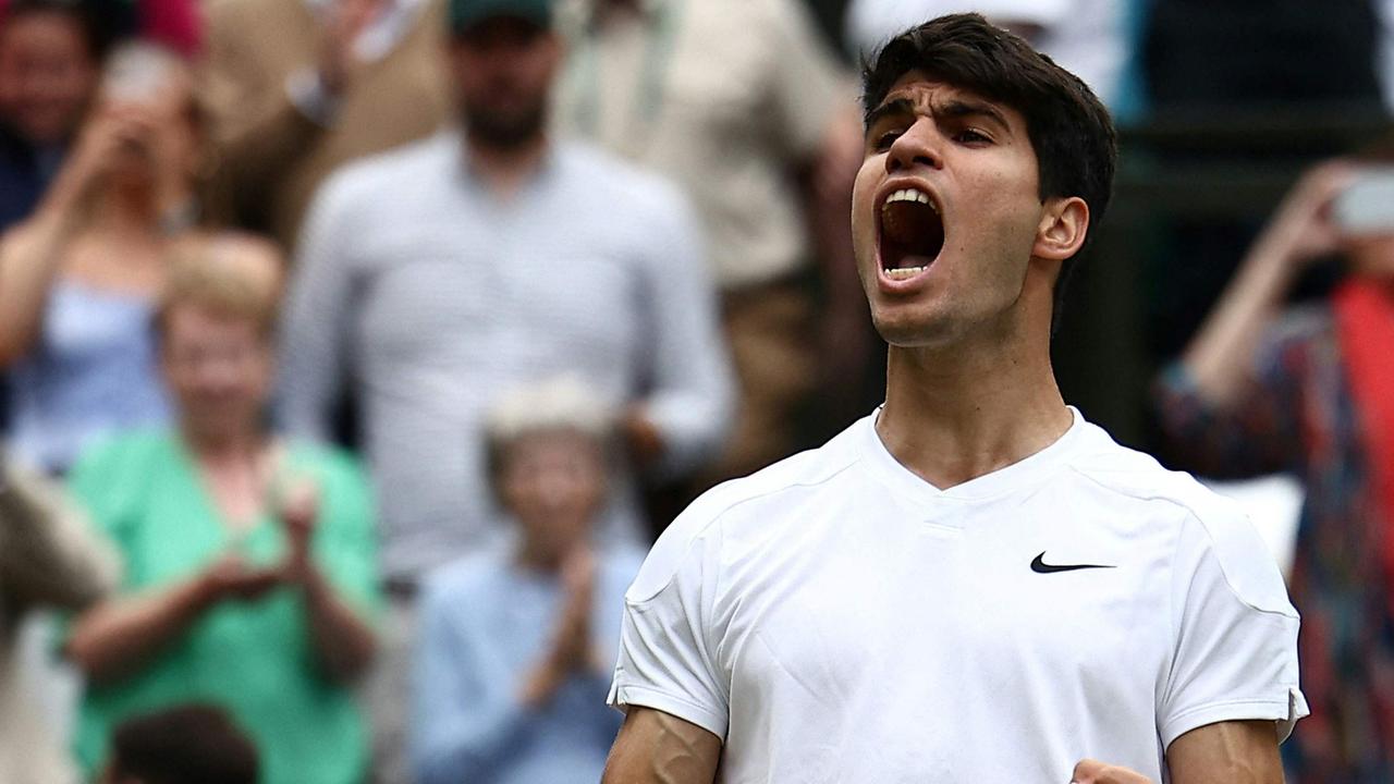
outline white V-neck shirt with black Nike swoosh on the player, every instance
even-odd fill
[[[626,594],[611,703],[721,737],[726,783],[1161,781],[1196,727],[1287,738],[1298,615],[1263,541],[1073,413],[944,491],[867,417],[705,494]]]

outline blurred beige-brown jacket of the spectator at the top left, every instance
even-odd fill
[[[340,165],[435,131],[449,113],[439,0],[382,57],[350,75],[329,124],[290,99],[309,70],[321,24],[305,0],[212,0],[202,95],[212,116],[219,204],[233,219],[294,247],[319,184]]]

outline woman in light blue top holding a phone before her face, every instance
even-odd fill
[[[199,114],[163,50],[113,56],[77,149],[0,240],[0,367],[15,453],[61,473],[93,438],[163,423],[149,331],[164,246],[198,213]]]

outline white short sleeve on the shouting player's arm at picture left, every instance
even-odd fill
[[[609,704],[661,710],[725,739],[728,688],[710,622],[719,533],[708,526],[694,534],[690,513],[659,537],[625,594]]]

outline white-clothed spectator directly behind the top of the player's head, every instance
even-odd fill
[[[1128,64],[1128,4],[1132,0],[852,0],[848,43],[870,56],[910,25],[944,14],[976,11],[1050,54],[1085,80],[1104,103],[1121,93]]]

